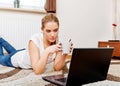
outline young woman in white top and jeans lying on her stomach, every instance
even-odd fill
[[[6,40],[0,38],[0,64],[25,69],[32,68],[35,74],[61,70],[65,65],[66,54],[62,54],[62,45],[57,43],[58,18],[54,14],[47,14],[42,19],[41,30],[42,32],[30,38],[26,49],[16,50]],[[7,56],[3,54],[3,47],[8,52]]]

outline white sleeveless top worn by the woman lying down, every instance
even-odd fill
[[[42,34],[42,32],[34,34],[29,39],[29,41],[30,40],[32,40],[34,42],[34,44],[39,48],[40,55],[42,56],[42,54],[44,52],[44,44],[43,44],[43,34]],[[48,57],[47,64],[53,62],[55,56],[56,56],[56,54],[54,53],[52,55],[52,57]],[[11,62],[12,62],[14,67],[20,67],[20,68],[25,68],[25,69],[32,68],[32,65],[31,65],[31,62],[30,62],[30,56],[29,56],[29,52],[28,52],[28,47],[26,48],[26,50],[22,50],[22,51],[19,51],[19,52],[15,53],[11,57]]]

